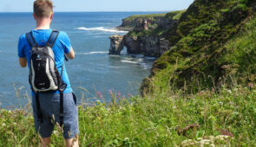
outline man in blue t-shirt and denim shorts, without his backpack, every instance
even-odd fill
[[[32,30],[32,36],[35,38],[35,42],[38,46],[43,46],[48,42],[52,32],[52,29],[50,29],[50,23],[53,18],[52,2],[50,0],[36,0],[34,2],[33,16],[36,20],[36,29]],[[67,146],[78,146],[78,139],[75,138],[79,133],[78,112],[75,104],[76,99],[75,96],[73,97],[72,89],[69,84],[69,77],[63,64],[64,54],[66,54],[69,59],[75,58],[75,52],[70,45],[69,36],[60,31],[52,50],[55,56],[57,71],[59,74],[62,73],[62,81],[67,84],[67,87],[63,92],[63,137],[66,140]],[[19,38],[18,56],[21,67],[30,67],[31,46],[26,35],[21,35]],[[40,121],[38,118],[38,107],[36,107],[37,101],[35,93],[32,91],[32,107],[36,133],[39,133],[43,138],[43,146],[49,146],[50,136],[54,129],[54,125],[56,123],[60,124],[60,92],[39,93],[39,101],[43,121]]]

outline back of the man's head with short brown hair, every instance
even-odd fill
[[[53,4],[50,0],[36,0],[34,2],[34,13],[39,18],[49,18],[53,11]]]

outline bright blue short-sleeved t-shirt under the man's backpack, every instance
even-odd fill
[[[51,34],[51,32],[52,32],[52,29],[32,30],[36,43],[39,46],[43,46],[46,44],[46,42],[48,42],[49,35]],[[59,74],[61,74],[62,64],[63,64],[62,80],[67,84],[67,88],[64,91],[64,93],[72,93],[72,89],[69,84],[69,76],[66,72],[66,68],[64,64],[64,53],[69,54],[70,48],[71,48],[71,44],[69,41],[69,36],[66,33],[60,31],[60,34],[58,35],[52,50],[55,54],[56,67]],[[30,55],[31,55],[31,48],[30,48],[29,42],[26,39],[26,35],[21,35],[18,42],[18,56],[20,58],[26,57],[29,67],[30,67]],[[55,93],[59,93],[59,92],[56,91]]]

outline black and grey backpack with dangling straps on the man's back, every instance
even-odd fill
[[[62,81],[61,75],[58,73],[53,53],[53,46],[59,35],[59,31],[53,30],[49,35],[49,40],[44,46],[38,46],[32,31],[26,34],[26,39],[31,47],[30,56],[30,76],[29,81],[32,91],[36,94],[37,116],[43,122],[39,93],[60,92],[60,125],[63,122],[63,92],[67,84]],[[67,60],[67,58],[65,58]],[[63,69],[63,65],[62,65]]]

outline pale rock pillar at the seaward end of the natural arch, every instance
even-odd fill
[[[119,55],[124,46],[123,35],[111,35],[109,39],[110,39],[109,54]]]

